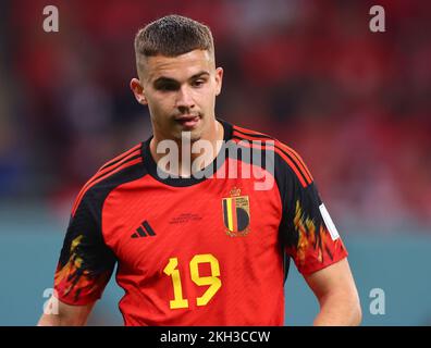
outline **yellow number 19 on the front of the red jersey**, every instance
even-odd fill
[[[200,263],[210,264],[211,266],[210,276],[199,275]],[[176,269],[177,265],[178,265],[178,259],[171,258],[169,259],[168,265],[163,270],[164,274],[171,276],[172,285],[174,289],[174,299],[170,301],[171,309],[188,308],[188,300],[183,298],[183,288],[181,285],[180,271]],[[219,278],[220,276],[219,261],[211,253],[196,254],[190,260],[189,268],[190,268],[192,281],[197,286],[209,285],[209,288],[204,293],[204,295],[196,299],[197,306],[206,306],[221,287],[221,279]]]

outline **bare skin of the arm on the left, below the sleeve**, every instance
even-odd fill
[[[70,306],[51,297],[48,306],[56,308],[57,314],[44,313],[37,326],[84,326],[95,302],[84,306]]]

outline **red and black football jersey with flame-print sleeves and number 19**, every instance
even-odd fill
[[[230,146],[200,177],[162,175],[148,139],[87,182],[54,276],[61,301],[99,299],[118,263],[125,325],[283,325],[286,257],[310,274],[347,256],[300,157],[220,122]],[[272,185],[257,189],[262,177]]]

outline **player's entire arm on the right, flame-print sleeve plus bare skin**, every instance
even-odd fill
[[[322,311],[318,322],[343,323],[341,318],[353,318],[355,323],[360,316],[359,297],[342,238],[311,176],[309,181],[300,181],[298,174],[301,173],[294,173],[290,167],[284,172],[284,177],[279,175],[283,200],[280,233],[284,250],[319,300]]]

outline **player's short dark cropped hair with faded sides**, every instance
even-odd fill
[[[135,37],[135,53],[139,55],[176,57],[193,50],[214,52],[211,30],[192,18],[171,14],[149,23]]]

